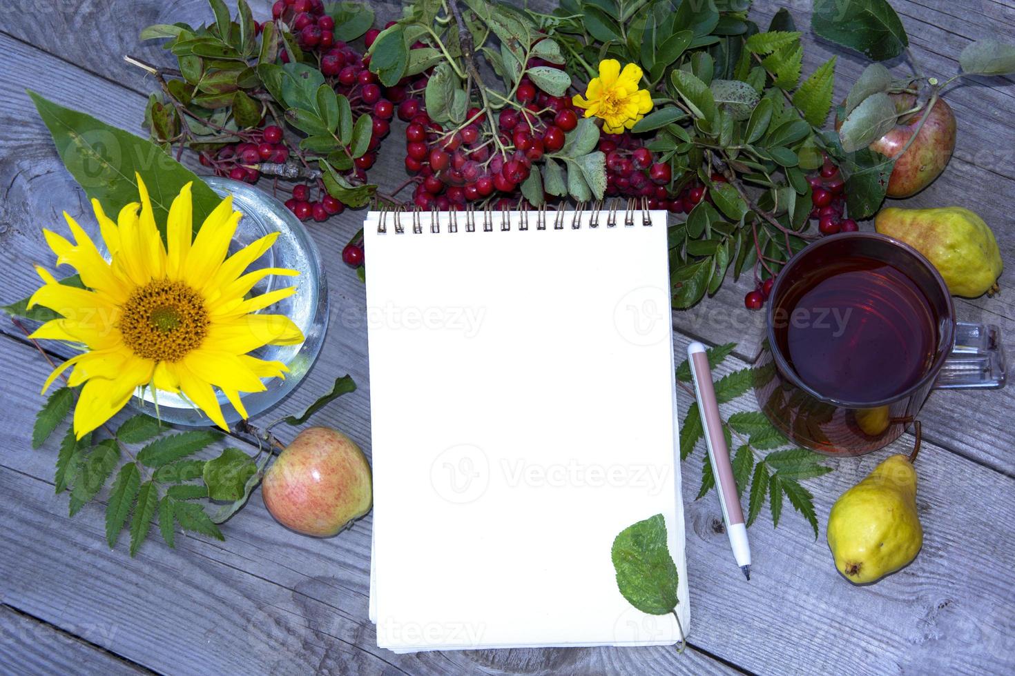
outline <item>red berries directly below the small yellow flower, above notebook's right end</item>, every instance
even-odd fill
[[[650,209],[669,208],[670,165],[657,162],[640,139],[626,132],[603,134],[599,150],[606,155],[606,195],[649,198]]]

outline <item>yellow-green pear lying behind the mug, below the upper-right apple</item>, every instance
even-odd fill
[[[968,209],[889,207],[878,213],[874,227],[923,253],[956,296],[975,298],[998,290],[998,242],[984,219]]]

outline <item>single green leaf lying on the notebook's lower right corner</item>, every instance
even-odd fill
[[[610,549],[620,594],[641,612],[665,615],[677,607],[679,576],[657,514],[620,531]]]

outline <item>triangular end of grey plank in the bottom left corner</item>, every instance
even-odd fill
[[[0,671],[26,675],[146,673],[79,637],[100,633],[103,628],[98,620],[70,631],[56,629],[7,605],[0,605]]]

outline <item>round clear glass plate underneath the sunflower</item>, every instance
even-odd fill
[[[254,261],[248,268],[248,272],[259,268],[290,268],[299,272],[298,277],[268,277],[258,283],[250,293],[251,296],[260,295],[274,289],[296,285],[298,290],[295,294],[261,312],[285,314],[303,332],[303,342],[298,345],[268,345],[250,353],[251,356],[260,359],[282,362],[289,369],[285,380],[265,378],[263,382],[267,386],[266,390],[243,395],[248,415],[255,418],[276,406],[296,388],[314,366],[328,329],[328,284],[325,281],[317,245],[295,215],[281,202],[253,185],[231,178],[205,176],[204,180],[220,196],[231,193],[233,208],[244,215],[229,245],[230,254],[270,232],[281,233],[275,244],[267,253]],[[216,390],[216,392],[225,422],[232,425],[240,421],[240,415],[225,395],[221,391]],[[155,416],[154,397],[150,389],[145,390],[143,397],[135,396],[131,399],[131,403],[137,410]],[[177,425],[194,427],[213,425],[200,408],[182,394],[164,391],[158,392],[158,416],[163,421]]]

